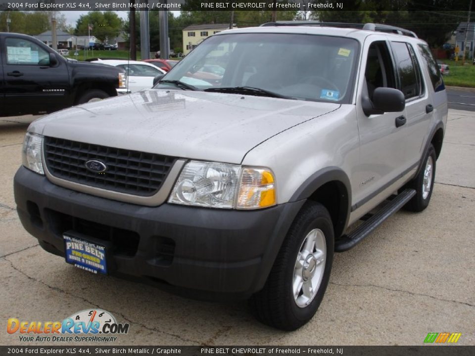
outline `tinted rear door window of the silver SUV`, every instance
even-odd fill
[[[421,89],[407,44],[404,42],[392,42],[391,46],[396,57],[397,72],[404,97],[410,99],[419,96]]]

